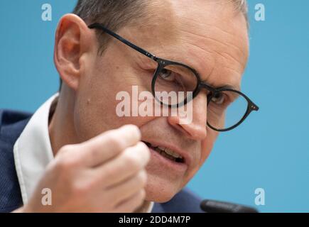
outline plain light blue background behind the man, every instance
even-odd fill
[[[76,1],[4,1],[0,8],[0,108],[35,111],[58,90],[55,28]],[[263,3],[266,21],[254,20]],[[309,212],[309,1],[249,0],[251,56],[243,91],[260,106],[242,126],[223,133],[189,187],[203,198],[264,212]],[[256,206],[263,188],[265,206]]]

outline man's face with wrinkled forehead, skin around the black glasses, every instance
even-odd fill
[[[158,57],[182,62],[200,73],[214,87],[240,87],[248,57],[246,21],[226,1],[158,1],[156,16],[126,26],[119,33]],[[94,43],[93,45],[98,45]],[[206,127],[206,92],[193,100],[193,121],[180,124],[174,117],[118,117],[116,94],[149,89],[156,62],[112,39],[102,56],[93,51],[82,61],[82,77],[75,102],[75,127],[80,141],[125,124],[139,126],[142,140],[169,148],[185,157],[183,163],[168,160],[151,149],[146,170],[146,200],[168,201],[195,175],[205,162],[218,133]]]

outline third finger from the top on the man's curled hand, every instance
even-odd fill
[[[146,186],[147,174],[145,170],[142,170],[134,177],[126,180],[121,184],[117,184],[114,187],[110,187],[104,193],[109,194],[114,198],[114,204],[119,204],[121,201],[129,199],[137,192]]]

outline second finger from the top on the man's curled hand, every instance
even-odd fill
[[[146,167],[150,152],[145,143],[139,142],[134,147],[126,148],[118,157],[94,169],[101,187],[108,189],[126,181]]]

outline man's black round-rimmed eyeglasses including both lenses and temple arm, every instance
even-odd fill
[[[207,126],[215,131],[230,131],[239,126],[252,111],[259,110],[259,107],[242,92],[225,86],[215,88],[202,82],[197,71],[188,65],[156,57],[151,52],[143,50],[143,48],[105,28],[100,23],[93,23],[88,28],[99,29],[112,35],[112,37],[146,55],[158,64],[153,74],[151,92],[153,97],[162,105],[178,108],[194,99],[202,89],[206,89]],[[175,94],[177,99],[166,99],[166,95],[171,93]]]

